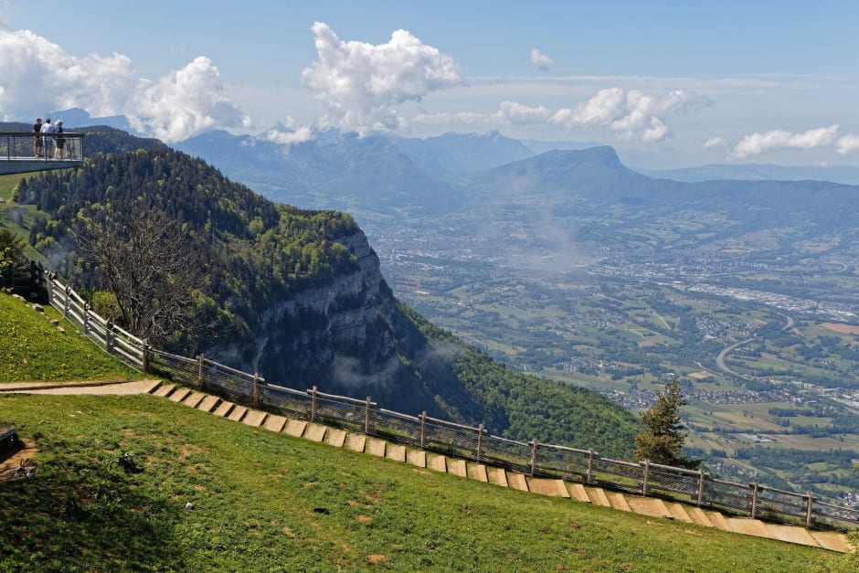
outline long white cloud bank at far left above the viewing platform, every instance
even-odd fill
[[[208,58],[146,80],[122,54],[77,58],[29,30],[0,27],[0,117],[29,118],[73,107],[95,117],[127,115],[135,129],[166,142],[249,122],[224,96]]]

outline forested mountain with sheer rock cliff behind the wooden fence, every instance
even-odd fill
[[[200,271],[188,304],[207,329],[165,337],[172,350],[257,367],[285,386],[483,423],[516,440],[631,453],[631,413],[494,363],[396,302],[348,215],[272,203],[166,148],[97,154],[83,168],[24,179],[16,201],[40,210],[31,244],[88,292],[106,285],[80,237],[122,234],[154,212],[175,224],[175,244]]]

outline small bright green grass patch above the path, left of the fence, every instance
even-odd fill
[[[0,294],[0,383],[143,377],[80,336],[55,309],[44,305],[44,311]]]

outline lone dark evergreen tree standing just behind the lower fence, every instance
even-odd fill
[[[665,385],[656,404],[642,412],[644,431],[635,437],[635,461],[649,460],[653,463],[672,465],[695,470],[700,460],[691,460],[683,453],[686,432],[680,419],[680,409],[686,400],[680,392],[677,378]]]

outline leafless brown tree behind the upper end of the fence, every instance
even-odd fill
[[[154,345],[193,339],[199,331],[195,297],[202,279],[189,241],[163,211],[134,211],[80,225],[80,252],[96,265],[102,283],[116,297],[119,322],[129,332]]]

